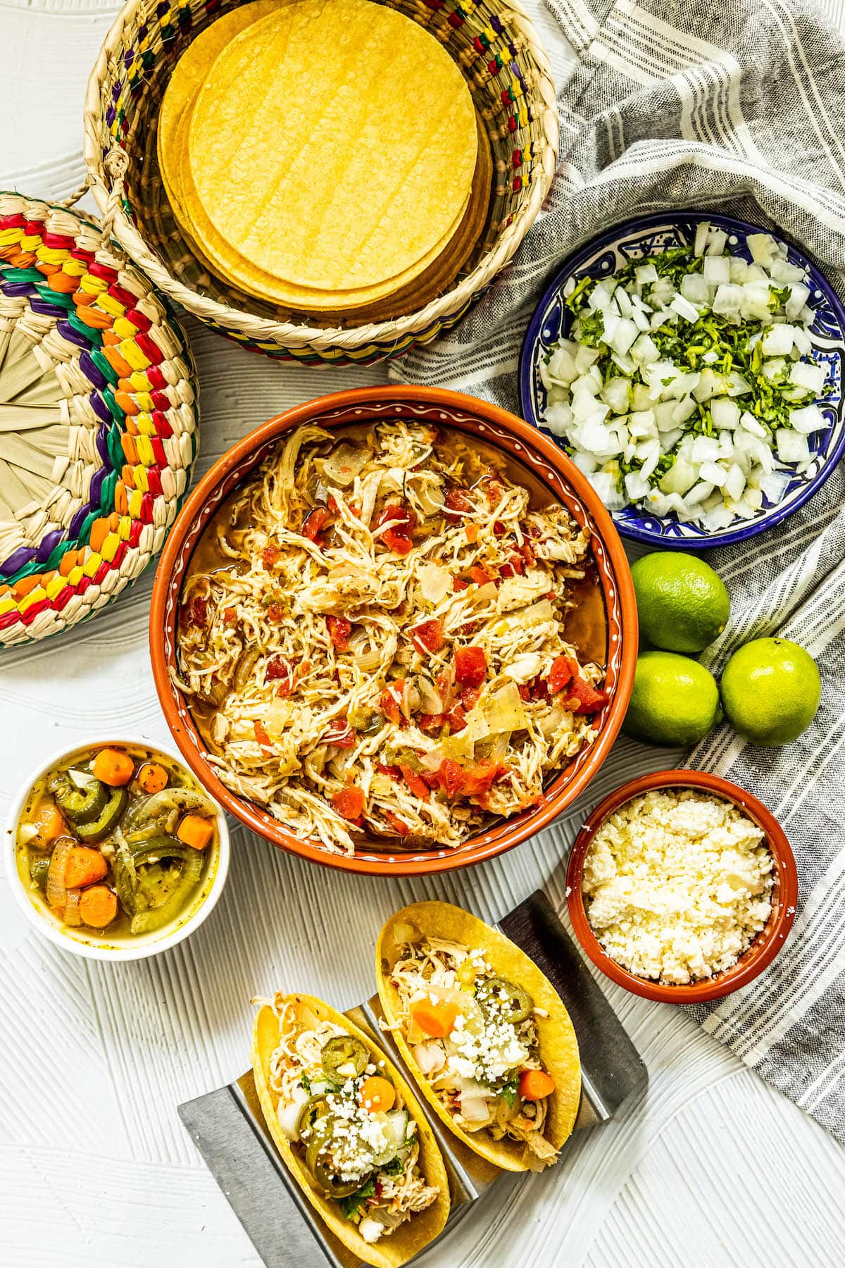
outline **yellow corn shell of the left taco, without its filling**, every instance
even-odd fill
[[[343,1217],[337,1202],[324,1197],[315,1186],[310,1173],[290,1148],[290,1141],[279,1126],[279,1097],[272,1092],[270,1083],[270,1059],[279,1046],[281,1035],[280,1019],[269,1004],[262,1004],[258,1009],[252,1032],[252,1073],[267,1129],[283,1161],[323,1222],[328,1225],[345,1246],[355,1252],[364,1263],[372,1264],[372,1268],[399,1268],[399,1264],[404,1264],[408,1259],[419,1254],[429,1241],[433,1241],[442,1232],[448,1216],[448,1181],[443,1158],[432,1135],[432,1130],[426,1122],[426,1116],[419,1108],[408,1083],[405,1083],[395,1065],[393,1065],[365,1031],[355,1026],[348,1017],[343,1017],[329,1004],[323,1003],[322,999],[317,999],[314,995],[291,994],[277,998],[281,1002],[291,1003],[298,1018],[310,1014],[317,1021],[331,1021],[336,1026],[342,1026],[343,1030],[365,1045],[375,1061],[384,1061],[384,1069],[398,1089],[404,1102],[404,1108],[417,1123],[417,1135],[419,1139],[418,1165],[426,1177],[426,1182],[440,1189],[440,1197],[424,1211],[412,1213],[410,1219],[399,1225],[390,1236],[381,1238],[378,1243],[370,1245],[359,1234],[355,1224]]]

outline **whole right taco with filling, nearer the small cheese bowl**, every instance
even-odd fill
[[[448,903],[393,915],[376,946],[388,1025],[421,1092],[507,1170],[556,1161],[578,1115],[578,1041],[560,995],[509,938]]]

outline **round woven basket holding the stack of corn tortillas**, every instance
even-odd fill
[[[386,3],[440,39],[464,72],[490,142],[493,189],[484,232],[451,288],[384,322],[321,326],[313,314],[280,311],[208,273],[180,233],[158,172],[158,110],[181,53],[232,3],[129,0],[100,49],[85,101],[85,161],[98,205],[103,210],[117,194],[113,232],[132,259],[176,303],[243,347],[308,364],[367,364],[431,341],[511,260],[549,193],[557,161],[555,89],[527,15],[513,0]]]

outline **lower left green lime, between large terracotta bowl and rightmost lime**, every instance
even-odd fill
[[[637,657],[622,729],[650,744],[697,744],[722,720],[716,678],[698,661],[674,652]]]

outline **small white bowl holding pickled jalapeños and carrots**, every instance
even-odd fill
[[[128,748],[146,748],[152,753],[161,753],[162,757],[168,757],[171,761],[179,762],[182,770],[185,770],[186,773],[190,773],[177,752],[171,748],[162,747],[161,744],[149,744],[144,739],[139,739],[137,737],[128,738],[125,735],[109,735],[104,738],[98,735],[94,739],[82,741],[79,744],[73,744],[71,748],[62,748],[57,753],[52,753],[51,757],[29,776],[15,798],[11,810],[9,812],[5,841],[3,846],[6,862],[6,876],[18,907],[33,928],[63,951],[71,951],[73,955],[84,956],[86,960],[146,960],[147,956],[158,955],[160,951],[168,951],[170,947],[175,947],[179,942],[182,942],[186,937],[189,937],[194,929],[198,929],[203,921],[210,914],[214,904],[223,893],[226,877],[229,872],[229,829],[226,822],[226,812],[218,805],[217,801],[214,801],[214,798],[209,796],[209,801],[217,806],[217,860],[209,870],[209,875],[206,876],[199,898],[195,900],[190,915],[187,915],[187,918],[185,918],[185,915],[180,915],[172,922],[171,926],[165,926],[165,928],[155,929],[149,933],[141,933],[137,937],[133,937],[130,942],[109,942],[106,935],[96,933],[94,929],[68,929],[56,915],[52,914],[46,903],[35,902],[27,893],[22,884],[20,874],[18,872],[18,861],[15,857],[18,822],[24,812],[27,799],[32,792],[33,785],[37,784],[42,776],[47,775],[48,771],[53,770],[53,767],[56,767],[60,762],[66,761],[75,753],[89,751],[91,748],[105,748],[108,744],[125,744]],[[208,794],[205,795],[208,796]]]

